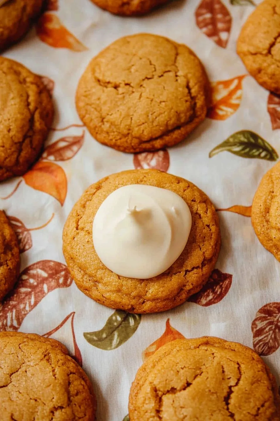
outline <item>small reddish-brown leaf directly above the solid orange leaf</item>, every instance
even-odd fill
[[[73,158],[84,144],[84,131],[81,136],[66,136],[47,146],[42,158],[49,161],[67,161]]]

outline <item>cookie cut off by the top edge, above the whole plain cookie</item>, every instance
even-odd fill
[[[92,0],[97,6],[121,16],[144,15],[169,0]]]

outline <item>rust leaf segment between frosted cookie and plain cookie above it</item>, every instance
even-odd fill
[[[136,170],[154,168],[166,172],[169,168],[169,162],[169,153],[166,149],[157,152],[142,152],[133,156],[133,165]]]

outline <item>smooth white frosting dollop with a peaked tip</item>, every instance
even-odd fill
[[[95,251],[118,275],[147,279],[180,256],[191,231],[191,212],[181,196],[160,187],[131,184],[111,193],[93,220]]]

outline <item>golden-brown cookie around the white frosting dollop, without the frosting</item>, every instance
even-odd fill
[[[128,184],[169,189],[186,201],[192,217],[188,242],[178,259],[162,274],[149,279],[111,272],[94,250],[92,223],[105,198]],[[171,309],[198,292],[214,269],[220,251],[215,208],[194,184],[158,170],[128,170],[92,184],[81,196],[63,229],[63,253],[78,288],[113,309],[153,313]]]

